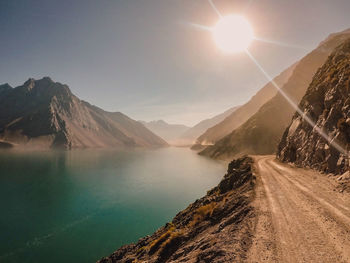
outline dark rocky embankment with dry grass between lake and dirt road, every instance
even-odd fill
[[[255,210],[253,160],[232,161],[219,185],[178,213],[172,222],[106,262],[241,262],[252,245]]]

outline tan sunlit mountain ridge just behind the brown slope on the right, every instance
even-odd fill
[[[280,75],[274,78],[274,81],[282,86],[284,85],[292,72],[296,64],[283,71]],[[196,140],[196,144],[200,145],[212,145],[219,141],[226,135],[230,134],[234,129],[248,120],[259,108],[277,94],[276,88],[271,82],[266,84],[260,89],[246,104],[239,107],[239,109],[232,112],[222,122],[209,128]]]

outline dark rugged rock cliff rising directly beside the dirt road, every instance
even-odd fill
[[[285,162],[324,172],[349,169],[350,150],[350,38],[318,70],[300,106],[304,116],[329,136],[322,137],[302,116],[295,114],[279,144]],[[334,144],[339,147],[334,146]]]

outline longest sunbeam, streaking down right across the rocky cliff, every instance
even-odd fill
[[[250,59],[255,63],[255,65],[260,69],[260,71],[265,75],[265,77],[272,83],[272,85],[278,90],[278,92],[287,100],[287,102],[298,112],[298,114],[305,120],[319,135],[321,135],[328,143],[333,146],[337,151],[341,154],[349,157],[349,153],[340,146],[334,139],[332,139],[328,134],[323,132],[316,123],[309,118],[304,112],[299,108],[299,106],[291,99],[289,96],[278,86],[278,84],[270,77],[270,75],[264,70],[264,68],[259,64],[259,62],[254,58],[254,56],[246,50],[246,53],[250,57]]]

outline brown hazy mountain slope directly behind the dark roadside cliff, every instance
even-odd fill
[[[282,90],[296,104],[306,92],[312,77],[332,53],[335,47],[350,36],[350,29],[330,35],[315,50],[299,61]],[[277,150],[280,138],[295,109],[277,93],[244,124],[205,148],[200,154],[213,158],[228,158],[242,154],[272,154]]]

